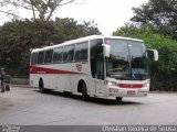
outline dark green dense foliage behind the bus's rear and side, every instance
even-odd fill
[[[86,22],[90,23],[90,22]],[[28,75],[30,48],[62,43],[91,34],[101,34],[94,23],[77,24],[73,19],[55,21],[15,20],[0,26],[0,66],[11,75]]]

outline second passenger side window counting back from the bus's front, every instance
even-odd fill
[[[63,62],[73,62],[74,45],[64,46]]]

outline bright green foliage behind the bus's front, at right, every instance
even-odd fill
[[[150,63],[152,88],[177,90],[177,41],[155,33],[153,24],[144,26],[126,24],[117,29],[113,35],[140,38],[147,48],[156,48],[159,61]]]

